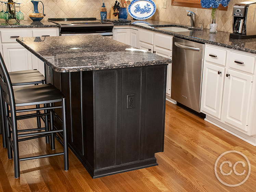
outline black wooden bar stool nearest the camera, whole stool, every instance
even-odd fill
[[[43,157],[50,157],[56,155],[64,155],[64,170],[68,170],[68,146],[67,146],[67,134],[66,134],[66,104],[65,104],[65,96],[59,89],[56,89],[51,84],[42,84],[42,85],[34,85],[34,86],[26,86],[22,88],[13,89],[12,82],[7,71],[7,68],[4,64],[3,57],[0,54],[0,86],[3,90],[3,100],[4,100],[4,112],[5,112],[5,124],[7,130],[7,138],[8,138],[8,158],[14,159],[14,174],[15,178],[20,177],[20,161],[25,161],[29,159],[37,159]],[[53,105],[53,103],[60,102],[61,105]],[[40,104],[49,104],[49,106],[40,107]],[[31,106],[38,105],[39,108],[23,108],[16,109],[18,106]],[[10,106],[10,112],[9,112]],[[59,118],[57,114],[55,114],[55,108],[62,109],[62,118]],[[25,114],[25,115],[16,115],[16,113],[20,112],[32,112],[39,110],[49,110],[49,113],[33,113],[33,114]],[[54,129],[53,128],[53,114],[56,118],[59,118],[62,121],[63,127],[62,129]],[[50,130],[44,130],[38,132],[38,129],[26,129],[22,130],[29,133],[20,133],[17,129],[17,120],[27,119],[32,117],[40,117],[44,115],[49,115],[50,119]],[[37,131],[37,132],[35,132]],[[54,145],[54,135],[58,132],[63,132],[63,142],[60,143],[63,145],[64,151],[61,153],[52,153],[46,155],[38,155],[32,157],[19,157],[19,146],[18,142],[26,141],[30,139],[35,139],[39,137],[50,136],[51,138],[51,149],[55,149]],[[20,133],[20,134],[18,134]],[[21,138],[22,139],[18,139]],[[13,154],[12,154],[13,151]]]

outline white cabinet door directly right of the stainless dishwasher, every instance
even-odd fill
[[[220,119],[225,67],[204,62],[201,112]]]

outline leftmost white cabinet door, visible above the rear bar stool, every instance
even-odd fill
[[[20,44],[2,44],[3,59],[9,72],[32,69],[31,53]]]

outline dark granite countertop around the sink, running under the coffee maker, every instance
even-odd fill
[[[233,38],[229,38],[230,33],[217,31],[217,34],[210,34],[209,29],[198,30],[200,28],[197,28],[196,30],[188,31],[188,32],[172,32],[172,31],[167,31],[163,29],[157,29],[157,27],[161,27],[163,25],[171,25],[171,26],[181,26],[181,25],[164,22],[164,21],[149,20],[149,19],[139,20],[139,21],[131,20],[131,23],[124,23],[124,22],[118,23],[117,21],[118,20],[116,20],[116,22],[114,23],[115,26],[130,25],[130,26],[135,26],[143,29],[156,31],[159,33],[167,34],[167,35],[172,35],[174,37],[180,37],[183,39],[213,44],[219,47],[225,47],[229,49],[256,54],[256,38],[233,39]],[[154,25],[155,27],[151,27],[148,25]],[[185,26],[185,28],[192,29],[190,26]]]

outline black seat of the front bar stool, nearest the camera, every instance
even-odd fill
[[[33,85],[13,89],[15,105],[27,106],[60,102],[65,96],[51,84]],[[10,105],[9,95],[3,92],[3,98]]]

